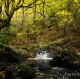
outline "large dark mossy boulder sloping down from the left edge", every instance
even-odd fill
[[[0,61],[17,63],[23,60],[22,54],[17,53],[11,47],[0,44]]]

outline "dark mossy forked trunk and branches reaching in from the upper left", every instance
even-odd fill
[[[9,1],[9,0],[6,0],[6,1]],[[4,4],[5,4],[5,13],[7,15],[7,18],[6,19],[0,19],[0,30],[2,30],[3,28],[7,27],[7,26],[10,26],[10,21],[11,21],[11,18],[13,17],[13,14],[16,10],[20,9],[20,8],[30,8],[32,7],[32,5],[35,3],[35,2],[32,2],[30,4],[28,4],[27,6],[23,6],[23,4],[21,3],[22,0],[19,0],[17,5],[14,6],[10,11],[9,11],[9,7],[10,7],[10,3],[11,1],[9,1],[8,3],[6,3],[6,1],[4,1]],[[39,0],[36,0],[36,2],[39,1]]]

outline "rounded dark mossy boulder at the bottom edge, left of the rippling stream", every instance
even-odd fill
[[[27,66],[26,64],[18,65],[18,74],[22,79],[33,79],[34,70],[32,67]]]

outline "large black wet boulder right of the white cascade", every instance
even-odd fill
[[[72,53],[68,50],[64,50],[61,55],[53,57],[49,62],[51,66],[64,67],[70,69],[79,69],[80,63],[78,63],[79,57],[77,54]]]

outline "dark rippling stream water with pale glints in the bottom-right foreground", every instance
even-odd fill
[[[35,79],[80,79],[79,72],[64,68],[53,67],[51,70],[42,72],[35,67],[35,70]]]

